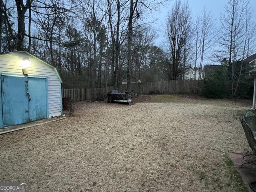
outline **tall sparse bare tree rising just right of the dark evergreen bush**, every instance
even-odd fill
[[[221,14],[219,44],[222,46],[218,58],[228,58],[230,80],[232,80],[231,95],[234,95],[234,82],[236,80],[236,60],[242,56],[242,36],[245,27],[245,16],[248,8],[247,0],[228,0],[224,14]]]

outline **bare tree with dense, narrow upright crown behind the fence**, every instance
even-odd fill
[[[190,38],[191,13],[188,3],[176,0],[166,18],[166,36],[170,46],[170,78],[176,80],[182,74],[184,49]]]

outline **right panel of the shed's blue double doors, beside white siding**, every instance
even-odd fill
[[[29,77],[28,92],[30,95],[30,102],[28,102],[30,121],[47,118],[46,79]]]

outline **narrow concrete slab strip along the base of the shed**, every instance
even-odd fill
[[[10,133],[10,132],[13,132],[13,131],[22,130],[22,129],[29,128],[29,127],[32,127],[32,126],[42,125],[42,124],[45,124],[45,123],[61,120],[61,119],[64,119],[64,118],[66,118],[66,117],[59,116],[59,117],[54,117],[54,118],[49,118],[49,119],[42,119],[42,120],[38,120],[38,121],[24,123],[24,124],[20,124],[20,125],[5,127],[3,129],[0,129],[0,135],[1,134],[7,134],[7,133]]]

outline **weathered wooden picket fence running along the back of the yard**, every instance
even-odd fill
[[[125,91],[126,86],[126,84],[123,84],[118,87],[118,90]],[[130,85],[130,90],[134,90],[134,93],[137,94],[198,94],[203,86],[204,80],[173,80],[134,83]],[[106,97],[112,89],[114,89],[114,86],[62,89],[62,98],[69,98],[72,101],[99,100]]]

